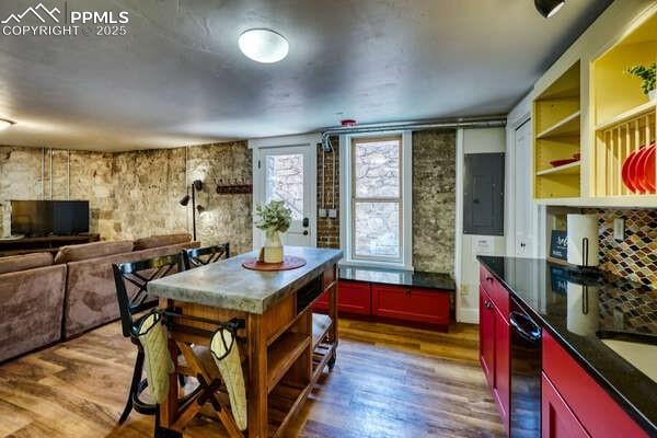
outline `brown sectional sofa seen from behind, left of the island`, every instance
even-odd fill
[[[0,361],[117,320],[112,264],[198,246],[170,234],[0,258]]]

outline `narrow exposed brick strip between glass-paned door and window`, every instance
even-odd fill
[[[331,219],[318,216],[318,246],[320,247],[339,247],[339,139],[332,137],[331,143],[334,151],[324,153],[324,168],[322,168],[322,148],[318,147],[318,208],[335,208],[338,210],[338,217]],[[335,199],[333,199],[332,186],[333,163],[335,163]],[[322,177],[324,177],[324,206],[322,206]]]

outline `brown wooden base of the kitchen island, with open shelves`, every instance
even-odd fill
[[[328,314],[313,314],[312,304],[328,292]],[[238,318],[245,328],[238,332],[240,356],[246,384],[249,427],[241,433],[234,425],[226,393],[209,391],[187,395],[178,387],[176,373],[200,377],[211,382],[209,367],[193,346],[208,347],[216,324],[177,319],[170,327],[171,356],[177,358],[171,376],[169,397],[160,406],[155,436],[181,436],[185,425],[205,403],[212,403],[217,416],[231,437],[278,437],[300,411],[326,366],[336,360],[337,275],[336,265],[327,265],[318,277],[296,288],[283,301],[263,314],[246,313],[161,299],[162,308],[187,316],[218,322]],[[217,408],[219,407],[219,408]]]

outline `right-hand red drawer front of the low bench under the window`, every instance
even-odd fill
[[[449,324],[449,293],[399,286],[372,286],[372,313],[427,324]]]

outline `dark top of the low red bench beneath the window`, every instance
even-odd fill
[[[423,273],[402,269],[341,266],[339,279],[450,291],[457,289],[454,280],[448,274]]]

